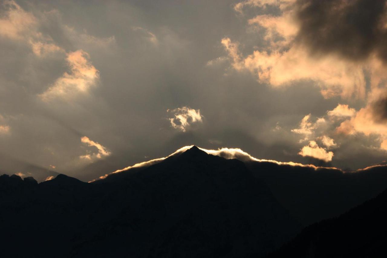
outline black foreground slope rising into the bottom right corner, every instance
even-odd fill
[[[306,227],[269,257],[386,257],[386,218],[387,190],[337,218]]]

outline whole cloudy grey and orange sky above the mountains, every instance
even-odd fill
[[[387,154],[386,0],[0,0],[0,172],[83,181],[188,145]]]

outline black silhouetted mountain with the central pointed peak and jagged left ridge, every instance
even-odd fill
[[[2,257],[259,257],[300,229],[238,160],[193,147],[123,173],[2,176]]]

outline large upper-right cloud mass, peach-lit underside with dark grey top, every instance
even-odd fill
[[[263,14],[248,20],[250,26],[264,29],[267,45],[243,56],[240,43],[224,38],[222,44],[231,65],[250,71],[260,83],[279,87],[313,81],[325,98],[365,98],[366,73],[373,86],[379,84],[386,79],[383,60],[387,60],[385,1],[369,3],[244,1],[235,5],[237,12],[245,7],[280,7],[281,15]],[[362,15],[364,10],[371,16]]]

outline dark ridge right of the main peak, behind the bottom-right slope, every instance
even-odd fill
[[[387,189],[387,168],[357,172],[245,162],[255,177],[304,226],[336,217]]]

